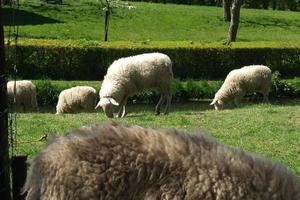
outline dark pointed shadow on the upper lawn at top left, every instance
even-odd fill
[[[13,10],[11,8],[2,8],[3,9],[3,25],[12,26],[12,25],[41,25],[41,24],[53,24],[53,23],[62,23],[62,21],[52,19],[49,17],[44,17],[32,12],[25,10]],[[14,14],[13,14],[14,13]],[[14,24],[13,24],[13,16]]]

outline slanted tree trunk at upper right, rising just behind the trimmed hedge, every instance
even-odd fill
[[[240,23],[240,10],[243,0],[233,0],[231,7],[231,21],[229,27],[229,43],[236,41],[237,31]]]

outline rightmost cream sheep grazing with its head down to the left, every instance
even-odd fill
[[[227,75],[210,105],[214,105],[216,110],[223,109],[230,102],[237,106],[246,94],[254,92],[262,93],[264,101],[267,101],[271,85],[272,71],[266,66],[251,65],[235,69]]]

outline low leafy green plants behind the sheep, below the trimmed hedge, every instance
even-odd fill
[[[50,81],[35,80],[37,86],[37,99],[39,106],[54,106],[57,103],[59,93],[70,87],[87,85],[94,87],[99,92],[100,81]],[[221,87],[222,81],[175,79],[172,82],[173,102],[185,102],[191,99],[212,99]],[[273,77],[271,98],[300,97],[300,78],[281,80],[277,73]],[[154,90],[146,90],[129,99],[129,103],[156,103],[159,94]]]

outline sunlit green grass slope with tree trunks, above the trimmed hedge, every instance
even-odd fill
[[[20,1],[20,38],[103,39],[103,13],[96,1],[64,1],[64,5]],[[229,23],[222,8],[132,3],[135,9],[115,10],[110,41],[224,41]],[[5,25],[9,24],[5,10]],[[8,30],[8,28],[6,28]],[[300,12],[241,10],[238,41],[299,41]]]

